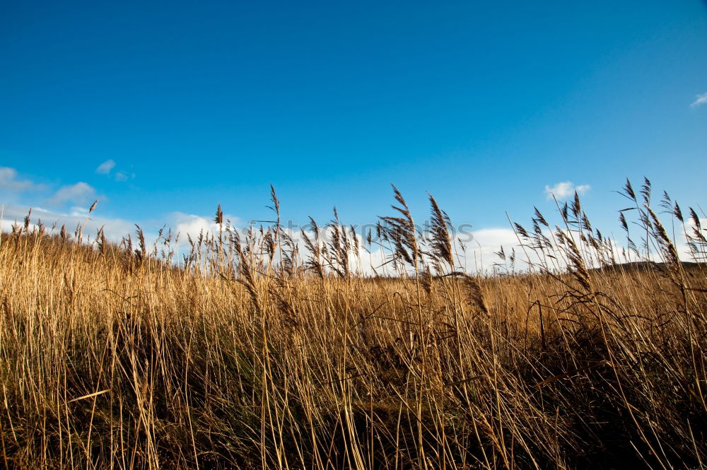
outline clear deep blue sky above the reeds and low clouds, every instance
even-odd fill
[[[613,228],[643,175],[705,202],[705,2],[383,3],[4,2],[0,202],[157,228],[268,218],[272,183],[367,223],[394,182],[498,228],[573,182]]]

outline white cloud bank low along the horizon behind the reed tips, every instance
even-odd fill
[[[545,187],[545,193],[551,197],[554,195],[558,199],[566,199],[578,192],[584,194],[590,189],[589,184],[580,184],[575,186],[572,182],[559,182],[554,184],[552,187],[549,185]],[[173,237],[177,234],[180,235],[177,248],[180,250],[188,249],[189,244],[187,239],[189,237],[192,240],[196,240],[200,233],[214,235],[218,233],[218,224],[214,222],[213,216],[205,216],[199,214],[185,213],[183,211],[172,211],[167,213],[160,218],[155,218],[147,221],[130,221],[123,218],[106,218],[100,216],[100,202],[98,208],[93,213],[88,214],[88,206],[92,204],[95,198],[98,198],[98,192],[95,188],[91,187],[85,182],[77,182],[74,184],[66,184],[59,187],[55,191],[51,191],[45,185],[36,184],[32,180],[22,178],[18,176],[18,172],[13,168],[0,168],[0,195],[1,194],[11,194],[11,195],[22,195],[22,196],[36,196],[36,200],[40,201],[42,204],[32,206],[32,215],[30,217],[30,223],[37,224],[39,221],[45,225],[45,227],[52,228],[58,231],[62,225],[66,225],[66,229],[69,232],[73,232],[74,228],[86,225],[83,233],[90,237],[90,239],[95,240],[95,235],[98,230],[103,230],[105,236],[114,242],[119,242],[123,237],[127,237],[129,234],[134,234],[136,231],[136,225],[139,225],[145,231],[146,239],[153,243],[158,239],[158,231],[160,228],[171,229]],[[3,204],[5,201],[0,201]],[[48,206],[45,206],[48,204]],[[3,218],[1,222],[1,229],[4,232],[12,230],[12,226],[16,223],[22,223],[25,216],[27,216],[30,210],[30,205],[28,204],[16,204],[11,202],[10,204],[3,204]],[[234,215],[226,214],[224,220],[230,221],[230,224],[242,231],[247,228],[247,223],[241,221],[240,218]],[[291,221],[290,221],[291,222]],[[707,225],[707,221],[704,221]],[[288,235],[298,245],[300,252],[304,252],[304,246],[302,242],[302,237],[300,230],[305,230],[312,235],[311,228],[309,224],[297,225],[296,223],[284,222]],[[358,226],[356,228],[355,236],[361,246],[359,255],[362,262],[368,261],[368,265],[360,266],[362,271],[366,274],[373,274],[373,269],[370,266],[385,266],[387,259],[385,258],[385,252],[380,249],[371,249],[370,253],[367,252],[364,247],[364,240],[366,239],[365,227],[373,227],[373,225]],[[460,226],[461,227],[461,226]],[[349,230],[348,228],[346,230]],[[421,233],[423,235],[426,233],[428,228],[421,228]],[[546,236],[550,236],[549,230],[546,230]],[[325,235],[329,233],[329,229],[324,229]],[[462,232],[459,232],[462,233]],[[455,245],[460,245],[457,243],[456,235],[459,233],[452,233],[452,239],[455,240]],[[520,254],[520,245],[518,240],[518,235],[515,233],[513,228],[480,228],[476,230],[471,230],[469,225],[464,229],[463,232],[464,239],[460,240],[463,242],[464,250],[457,257],[457,262],[467,270],[467,272],[478,272],[487,271],[493,269],[493,266],[497,264],[506,264],[499,259],[496,254],[501,248],[510,254],[515,248],[516,252]],[[684,237],[683,237],[684,238]],[[685,256],[686,243],[685,240],[677,240],[678,249],[681,257],[687,259]],[[620,249],[620,247],[617,247]],[[518,257],[518,264],[516,266],[521,268],[527,268],[527,262],[537,262],[537,259],[525,260],[523,262],[522,257]]]

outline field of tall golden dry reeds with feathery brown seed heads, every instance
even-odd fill
[[[704,468],[707,282],[675,242],[700,262],[704,229],[623,193],[626,242],[575,197],[474,275],[397,190],[375,237],[297,242],[274,193],[245,236],[219,208],[178,263],[170,235],[28,219],[0,240],[0,466]],[[387,276],[361,275],[373,247]]]

